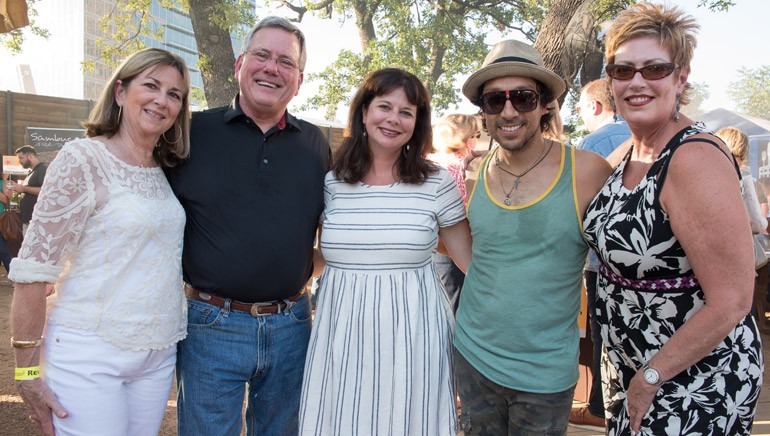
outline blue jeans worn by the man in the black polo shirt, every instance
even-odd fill
[[[229,305],[187,299],[176,367],[179,435],[238,436],[247,386],[246,434],[296,435],[310,299],[261,317]]]

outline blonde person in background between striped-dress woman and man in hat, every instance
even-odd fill
[[[481,123],[473,115],[448,115],[433,125],[433,153],[428,155],[428,159],[441,165],[454,177],[463,203],[466,201],[466,158],[476,148],[480,137]],[[454,313],[457,312],[465,274],[451,257],[441,251],[433,253],[433,264]]]

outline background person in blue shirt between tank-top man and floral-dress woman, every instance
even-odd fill
[[[620,144],[631,137],[628,124],[615,113],[607,81],[597,79],[580,90],[577,112],[590,132],[578,144],[581,150],[590,150],[607,158]],[[593,343],[591,361],[591,390],[588,404],[572,409],[569,422],[604,428],[604,401],[602,399],[602,336],[596,319],[596,279],[599,274],[599,257],[591,250],[586,258],[583,276],[586,286],[588,323]]]

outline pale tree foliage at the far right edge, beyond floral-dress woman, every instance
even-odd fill
[[[738,112],[770,119],[770,65],[756,69],[741,68],[738,80],[730,83],[727,94]]]

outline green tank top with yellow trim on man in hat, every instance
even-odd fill
[[[578,380],[577,317],[588,246],[575,189],[575,150],[561,145],[554,183],[505,206],[486,180],[470,193],[473,260],[457,312],[455,346],[481,374],[515,390],[565,391]]]

